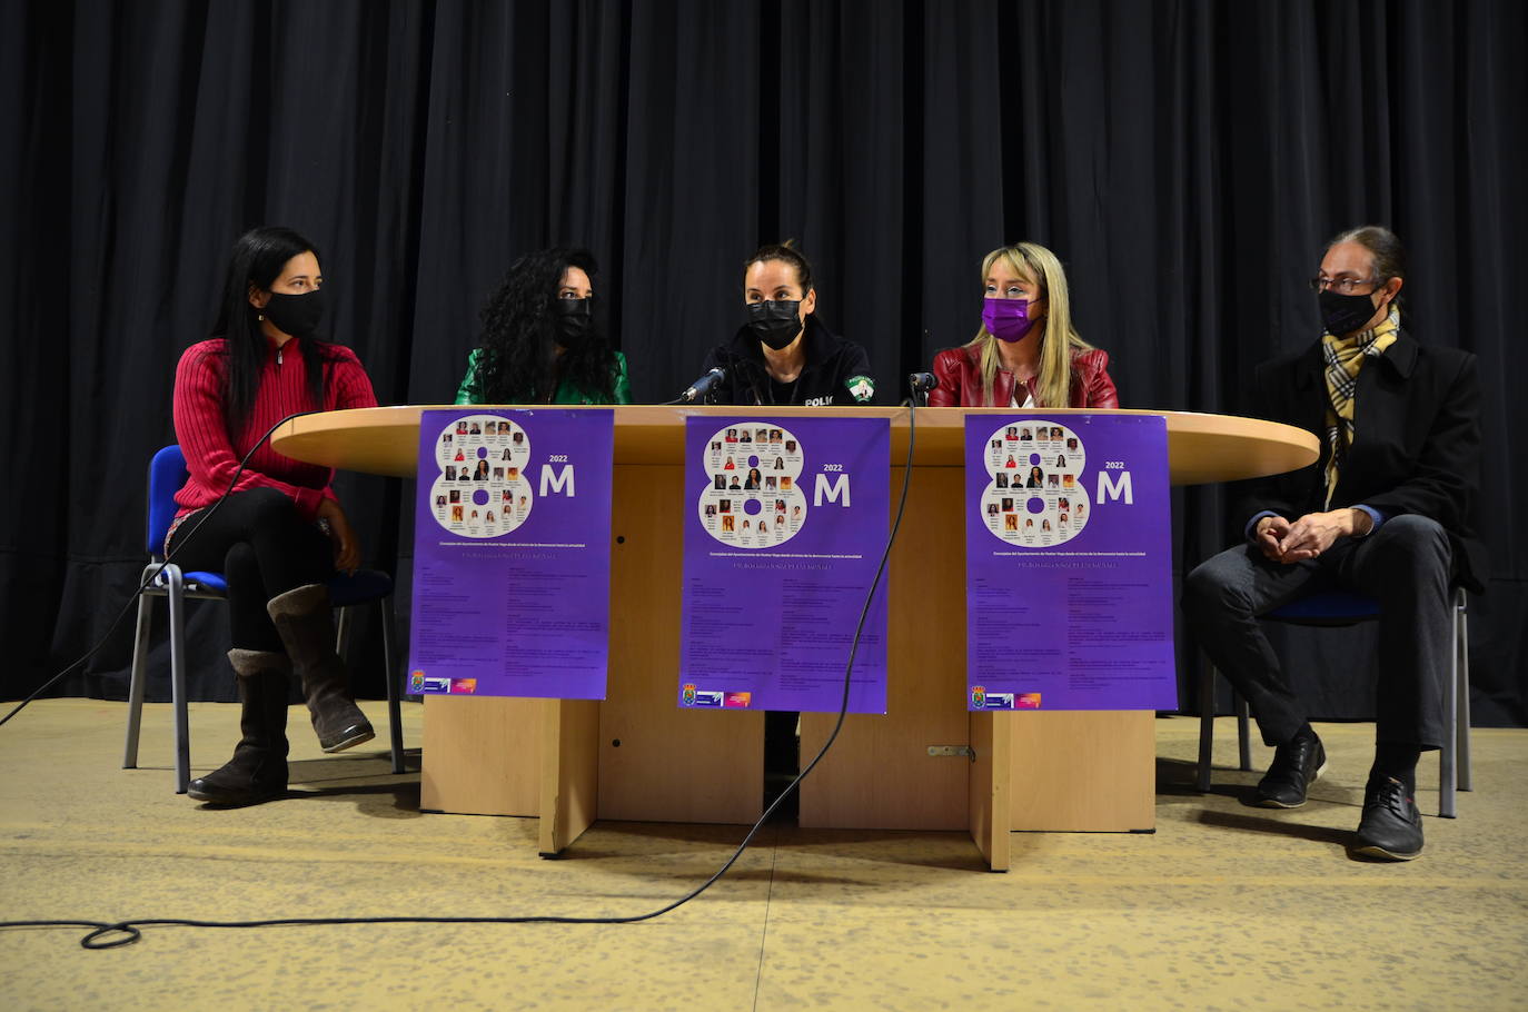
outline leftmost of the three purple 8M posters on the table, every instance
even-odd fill
[[[605,699],[614,411],[419,422],[408,691]]]

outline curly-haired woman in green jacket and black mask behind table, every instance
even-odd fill
[[[631,404],[626,359],[594,323],[599,271],[587,249],[542,249],[509,264],[483,307],[457,404]]]

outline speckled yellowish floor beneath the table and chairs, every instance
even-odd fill
[[[209,769],[237,708],[193,709]],[[118,769],[122,722],[121,703],[49,700],[0,728],[0,917],[633,914],[741,838],[601,822],[542,861],[532,822],[420,815],[417,772],[388,775],[370,746],[322,757],[298,711],[301,793],[208,810],[173,793],[168,706],[145,711],[144,769]],[[1158,720],[1158,832],[1021,835],[1008,874],[953,833],[784,829],[631,926],[150,926],[104,952],[78,929],[11,929],[0,1007],[1528,1007],[1528,731],[1476,731],[1461,818],[1429,816],[1426,855],[1381,865],[1343,848],[1369,726],[1319,726],[1328,778],[1270,812],[1239,804],[1258,774],[1230,769],[1221,725],[1215,793],[1189,787],[1196,723]],[[1436,812],[1435,761],[1421,780]]]

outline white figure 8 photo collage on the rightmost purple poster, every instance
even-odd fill
[[[981,515],[995,537],[1019,547],[1070,541],[1088,524],[1082,488],[1086,452],[1065,425],[1018,422],[987,439]]]

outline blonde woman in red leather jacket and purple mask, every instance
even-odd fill
[[[931,408],[1117,408],[1109,355],[1071,326],[1067,272],[1036,243],[993,249],[981,261],[981,329],[934,356]]]

